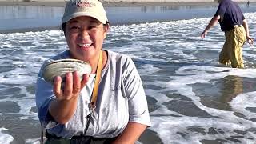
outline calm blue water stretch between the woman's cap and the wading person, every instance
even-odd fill
[[[215,6],[130,6],[106,7],[106,13],[112,25],[122,25],[210,17],[216,9]]]

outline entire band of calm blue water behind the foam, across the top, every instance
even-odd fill
[[[243,11],[254,11],[255,5]],[[122,6],[106,7],[111,25],[139,22],[162,22],[190,18],[211,17],[217,7],[214,6]],[[0,6],[0,33],[6,30],[58,27],[63,7],[50,6]],[[207,13],[206,13],[207,11]]]

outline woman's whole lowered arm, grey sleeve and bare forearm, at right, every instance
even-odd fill
[[[128,99],[129,122],[112,144],[134,144],[151,125],[146,94],[142,80],[131,58],[126,58],[125,73],[122,75],[125,97]]]

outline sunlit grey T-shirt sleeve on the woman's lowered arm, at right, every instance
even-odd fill
[[[146,94],[138,70],[131,58],[128,58],[126,65],[126,73],[123,79],[126,97],[128,98],[129,122],[151,126]]]

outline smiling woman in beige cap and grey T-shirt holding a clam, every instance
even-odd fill
[[[67,73],[62,90],[62,78],[54,78],[52,86],[42,77],[42,66],[36,104],[38,118],[46,129],[46,143],[131,144],[150,126],[146,94],[134,62],[124,54],[102,49],[109,27],[106,11],[98,0],[66,3],[62,30],[69,50],[43,66],[57,59],[74,58],[90,63],[92,72],[85,74],[82,82],[77,72]],[[91,102],[97,78],[98,97]]]

